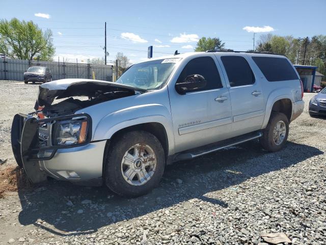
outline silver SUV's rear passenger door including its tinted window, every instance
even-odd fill
[[[234,136],[261,129],[265,104],[260,78],[255,76],[246,55],[219,57],[229,86]]]

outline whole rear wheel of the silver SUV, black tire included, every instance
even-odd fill
[[[280,122],[280,124],[278,124],[278,122]],[[274,129],[276,129],[277,124],[280,125],[281,128],[279,133],[274,138]],[[276,129],[276,132],[277,131],[278,130]],[[286,143],[288,134],[289,121],[286,115],[280,112],[272,112],[267,127],[263,130],[263,136],[260,138],[260,144],[262,145],[263,149],[268,152],[280,151]],[[280,137],[278,137],[278,135],[280,135]]]

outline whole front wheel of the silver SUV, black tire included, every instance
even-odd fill
[[[153,154],[149,154],[150,152]],[[111,142],[104,166],[104,181],[106,186],[118,195],[127,198],[139,197],[158,185],[164,173],[165,163],[162,145],[153,134],[146,131],[130,131]],[[143,167],[147,174],[143,175],[147,177],[142,178],[144,183],[140,179],[140,169]],[[131,173],[129,180],[126,177],[128,173]],[[132,177],[133,173],[135,174]]]

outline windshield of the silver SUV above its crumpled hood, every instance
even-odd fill
[[[164,85],[180,58],[161,59],[135,64],[127,69],[117,83],[143,89],[158,89]]]

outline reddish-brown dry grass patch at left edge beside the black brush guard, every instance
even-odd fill
[[[18,188],[30,188],[31,183],[25,172],[18,166],[8,166],[0,173],[0,198],[7,192],[17,191]]]

